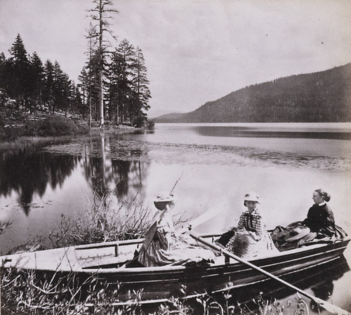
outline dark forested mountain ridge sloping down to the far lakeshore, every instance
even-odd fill
[[[351,122],[351,63],[246,86],[155,122]]]

